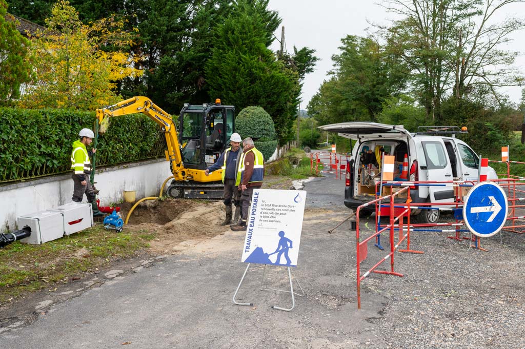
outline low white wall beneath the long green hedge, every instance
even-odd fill
[[[95,185],[100,191],[100,204],[110,206],[123,200],[124,190],[137,191],[137,198],[158,196],[169,176],[170,164],[158,159],[97,168]],[[71,174],[0,186],[0,232],[15,229],[16,217],[70,202],[72,193]]]

